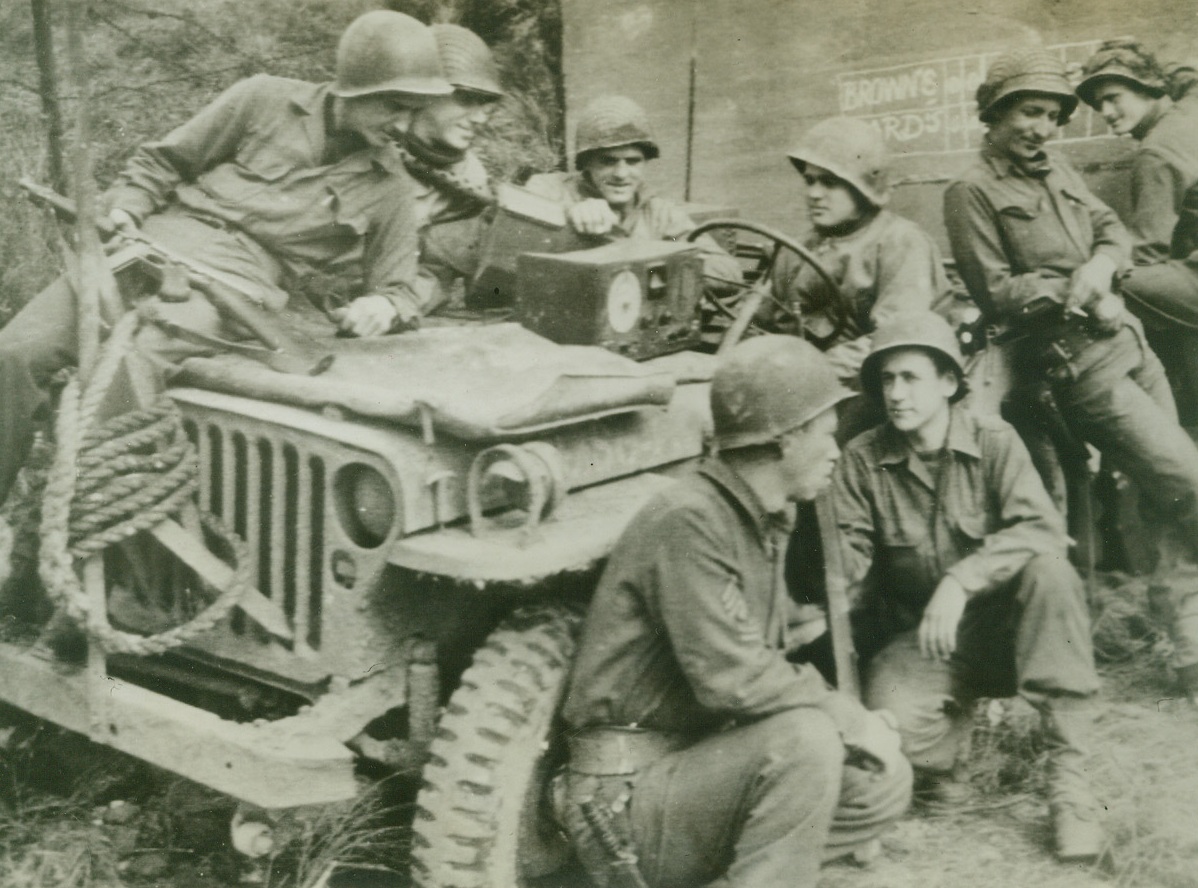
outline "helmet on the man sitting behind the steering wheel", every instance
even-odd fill
[[[890,157],[882,133],[864,120],[830,117],[811,127],[787,155],[799,173],[807,164],[843,179],[876,207],[890,200]]]

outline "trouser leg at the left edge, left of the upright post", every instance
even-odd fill
[[[50,379],[74,363],[75,349],[74,292],[65,278],[0,328],[0,503],[49,411]]]

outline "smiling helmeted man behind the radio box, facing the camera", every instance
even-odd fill
[[[574,173],[543,173],[527,182],[564,204],[582,235],[680,241],[695,223],[674,201],[649,192],[646,164],[660,155],[648,116],[624,96],[600,96],[582,109],[574,135]],[[696,241],[708,274],[740,280],[740,266],[714,240]]]

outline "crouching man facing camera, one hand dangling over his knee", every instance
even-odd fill
[[[866,706],[895,713],[916,787],[948,802],[964,796],[973,703],[1023,696],[1049,747],[1058,853],[1093,860],[1083,730],[1099,681],[1064,520],[1015,429],[954,406],[963,362],[939,315],[879,325],[861,388],[887,422],[845,448],[834,502]]]

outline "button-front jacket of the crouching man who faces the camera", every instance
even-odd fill
[[[1064,519],[996,416],[952,407],[945,447],[928,461],[889,422],[871,429],[845,448],[833,496],[857,603],[881,605],[900,630],[919,623],[945,575],[973,597],[1035,555],[1066,557]]]

